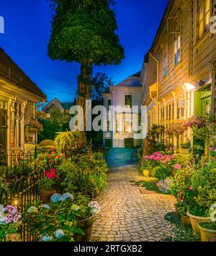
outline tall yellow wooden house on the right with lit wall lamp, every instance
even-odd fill
[[[215,0],[168,1],[141,74],[148,129],[153,124],[181,123],[193,115],[216,114],[216,35],[210,31],[215,4]],[[185,132],[181,140],[190,138]]]

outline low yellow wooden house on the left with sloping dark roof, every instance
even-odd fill
[[[26,127],[35,118],[37,104],[46,95],[0,48],[0,150],[24,149]],[[37,142],[37,129],[31,142]]]

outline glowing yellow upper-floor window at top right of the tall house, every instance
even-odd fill
[[[202,0],[198,2],[198,40],[210,28],[210,0]]]

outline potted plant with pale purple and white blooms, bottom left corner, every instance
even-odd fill
[[[6,208],[0,206],[2,209],[0,213],[0,242],[19,241],[21,214],[16,206],[6,205]]]

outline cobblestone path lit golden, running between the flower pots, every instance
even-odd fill
[[[108,187],[99,196],[101,213],[95,217],[92,241],[163,241],[171,236],[174,224],[166,213],[174,211],[171,195],[143,195],[134,182],[142,180],[137,166],[112,168]]]

